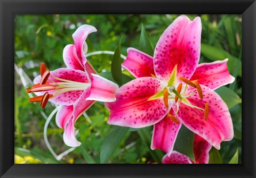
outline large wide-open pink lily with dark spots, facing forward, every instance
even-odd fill
[[[151,149],[170,156],[181,124],[217,149],[233,139],[233,124],[226,103],[213,90],[232,83],[227,59],[198,65],[201,19],[181,15],[163,32],[154,57],[129,48],[122,66],[134,79],[106,103],[108,123],[131,128],[154,124]]]

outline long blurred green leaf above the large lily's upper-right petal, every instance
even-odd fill
[[[217,47],[201,44],[201,53],[209,58],[211,61],[222,61],[228,58],[228,70],[231,74],[237,71],[239,77],[242,76],[242,62],[238,58],[232,56],[225,50],[219,49]]]

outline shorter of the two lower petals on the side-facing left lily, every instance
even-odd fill
[[[72,115],[73,115],[73,105],[61,106],[61,108],[56,114],[56,119],[55,119],[58,127],[65,129],[65,126]]]

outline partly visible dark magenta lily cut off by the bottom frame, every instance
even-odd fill
[[[205,141],[202,137],[195,134],[193,152],[195,156],[195,162],[188,156],[181,154],[177,151],[172,151],[171,155],[167,154],[163,157],[163,164],[208,164],[209,163],[209,151],[212,146]]]

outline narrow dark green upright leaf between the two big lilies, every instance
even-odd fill
[[[116,47],[115,53],[112,58],[111,62],[111,73],[113,76],[113,79],[119,84],[119,86],[122,86],[122,61],[121,61],[121,41],[122,38],[120,38],[119,43]]]

